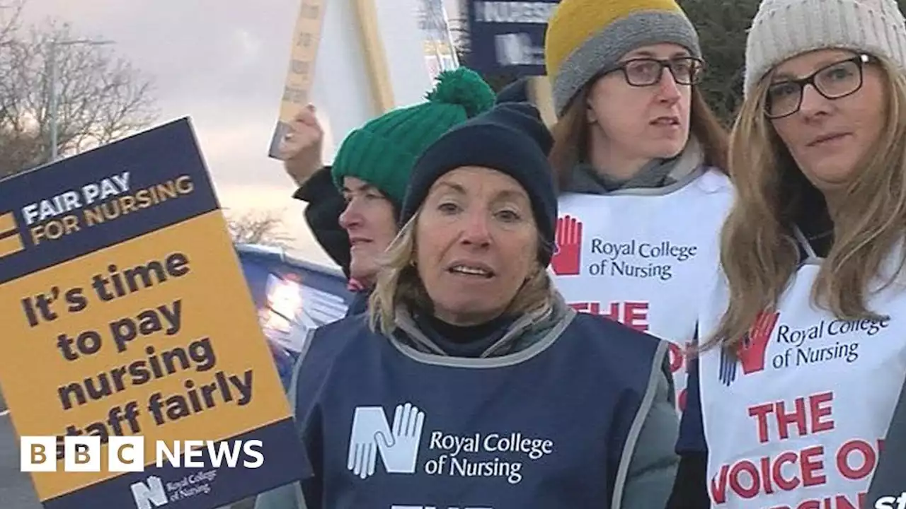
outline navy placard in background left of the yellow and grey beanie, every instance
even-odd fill
[[[468,66],[478,72],[545,75],[547,20],[559,0],[467,0]]]

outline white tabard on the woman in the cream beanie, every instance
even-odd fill
[[[738,361],[719,349],[701,357],[714,507],[869,509],[860,498],[906,376],[906,292],[893,286],[870,299],[869,309],[889,320],[836,320],[811,301],[820,264],[812,254],[798,269]],[[703,333],[713,331],[727,295],[718,284]]]

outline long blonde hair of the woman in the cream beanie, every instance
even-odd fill
[[[811,293],[817,306],[842,320],[882,318],[868,309],[870,283],[881,275],[906,225],[906,78],[888,60],[881,67],[887,78],[885,126],[834,210],[834,245]],[[810,184],[763,113],[769,83],[770,75],[743,102],[730,135],[737,199],[720,237],[729,303],[700,350],[720,344],[734,351],[757,315],[776,306],[799,263],[792,228]],[[881,288],[893,283],[903,262]]]

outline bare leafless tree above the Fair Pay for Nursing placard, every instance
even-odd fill
[[[8,25],[0,47],[0,177],[43,164],[51,154],[54,42],[60,156],[128,136],[157,118],[152,82],[110,46],[62,43],[93,39],[53,20],[27,33],[17,23]]]

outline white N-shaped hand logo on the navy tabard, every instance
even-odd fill
[[[362,479],[374,474],[378,450],[389,474],[412,474],[419,456],[425,412],[406,403],[398,405],[393,430],[381,407],[359,407],[352,418],[346,466]]]

